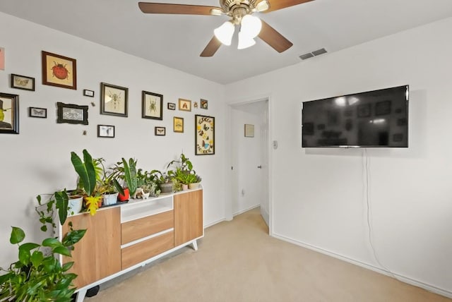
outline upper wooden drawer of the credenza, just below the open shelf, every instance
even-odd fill
[[[167,211],[121,224],[121,244],[126,244],[174,227],[174,212]]]

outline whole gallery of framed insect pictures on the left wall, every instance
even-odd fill
[[[0,69],[6,64],[4,47],[0,47]],[[42,85],[77,90],[77,59],[52,52],[41,52]],[[30,75],[11,73],[10,87],[18,90],[36,90],[35,78]],[[100,83],[100,114],[129,117],[129,88],[117,84]],[[95,97],[95,91],[83,89],[84,97]],[[95,107],[95,102],[90,102]],[[199,104],[199,105],[198,105]],[[89,106],[85,104],[67,104],[57,102],[57,123],[88,125]],[[141,118],[164,121],[163,95],[142,90]],[[179,98],[177,102],[167,102],[168,111],[208,110],[208,100]],[[28,107],[28,117],[47,119],[48,108]],[[184,133],[184,117],[172,116],[173,133]],[[195,155],[215,155],[215,118],[213,116],[194,115]],[[19,134],[19,95],[0,92],[0,133]],[[155,136],[165,136],[165,126],[155,126]],[[83,130],[83,135],[87,131]],[[97,138],[115,138],[114,125],[97,125]]]

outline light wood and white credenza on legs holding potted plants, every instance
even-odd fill
[[[96,215],[79,213],[68,217],[60,236],[73,229],[87,229],[76,243],[70,272],[77,302],[83,301],[93,286],[161,258],[178,248],[197,249],[203,229],[203,190],[181,191],[147,200],[130,200],[118,206],[97,210]]]

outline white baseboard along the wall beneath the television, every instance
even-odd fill
[[[420,287],[421,289],[425,289],[427,291],[431,291],[434,294],[439,294],[441,296],[446,296],[448,298],[452,298],[452,291],[447,291],[446,289],[441,289],[441,288],[433,286],[431,284],[420,282],[418,280],[411,279],[409,277],[405,277],[405,276],[400,275],[400,274],[396,274],[396,273],[393,273],[393,272],[388,272],[387,270],[383,270],[380,267],[376,267],[374,265],[369,265],[368,263],[361,262],[361,261],[358,261],[358,260],[354,260],[352,258],[347,258],[347,257],[345,257],[343,255],[339,255],[337,253],[333,253],[333,252],[331,252],[329,250],[324,250],[323,248],[318,248],[316,246],[311,246],[310,244],[303,243],[301,241],[297,241],[295,239],[288,238],[286,236],[281,236],[281,235],[278,235],[278,234],[275,234],[275,233],[271,234],[270,236],[273,236],[273,237],[278,238],[278,239],[283,240],[283,241],[287,241],[287,242],[293,243],[296,246],[302,246],[303,248],[309,248],[309,250],[314,250],[316,252],[319,252],[319,253],[331,256],[333,258],[337,258],[339,260],[343,260],[345,262],[349,262],[349,263],[352,263],[354,265],[358,265],[360,267],[364,267],[364,268],[366,268],[368,270],[373,270],[374,272],[379,272],[380,274],[385,274],[386,276],[389,276],[389,277],[395,277],[400,282],[404,282],[404,283],[407,283],[407,284],[411,284],[411,285]]]

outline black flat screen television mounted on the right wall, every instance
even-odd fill
[[[303,102],[302,147],[408,147],[409,86]]]

